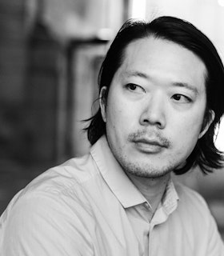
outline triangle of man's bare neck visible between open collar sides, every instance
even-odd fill
[[[150,203],[154,212],[157,209],[159,202],[162,200],[167,182],[170,180],[170,174],[166,174],[160,178],[143,178],[134,176],[133,174],[127,175]]]

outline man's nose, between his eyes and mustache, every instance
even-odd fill
[[[166,127],[166,106],[161,94],[150,95],[140,116],[142,126],[157,126],[159,129]]]

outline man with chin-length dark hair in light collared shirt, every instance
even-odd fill
[[[223,256],[206,202],[170,178],[222,167],[223,84],[217,51],[190,23],[126,22],[102,63],[90,154],[13,198],[2,255]]]

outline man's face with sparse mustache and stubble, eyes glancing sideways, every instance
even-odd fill
[[[110,149],[126,172],[158,178],[185,162],[208,128],[205,77],[203,62],[174,42],[150,37],[126,47],[101,101]]]

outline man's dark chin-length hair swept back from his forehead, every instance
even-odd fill
[[[214,133],[224,113],[224,68],[213,43],[190,22],[169,16],[156,18],[152,22],[127,21],[118,31],[102,62],[98,75],[99,90],[102,86],[106,86],[108,93],[114,74],[122,65],[126,46],[130,42],[150,36],[178,43],[192,51],[204,62],[207,70],[205,126],[210,120],[210,110],[213,110],[215,114],[210,128],[202,138],[198,139],[197,145],[186,159],[186,165],[181,169],[174,170],[174,173],[184,174],[196,165],[205,174],[221,168],[224,158],[222,152],[214,145]],[[106,98],[107,94],[104,96]],[[93,145],[102,134],[106,133],[106,125],[102,120],[100,110],[89,121],[90,125],[86,130],[88,139]]]

